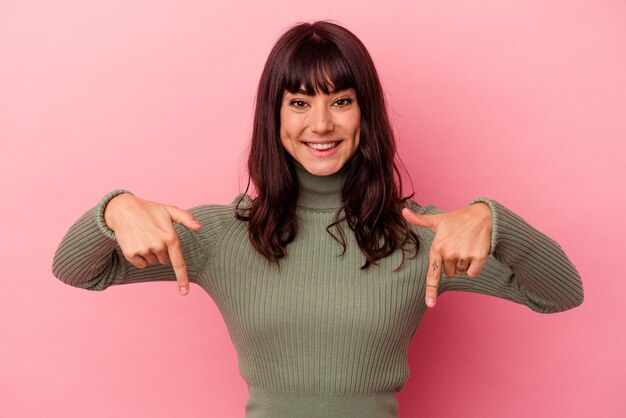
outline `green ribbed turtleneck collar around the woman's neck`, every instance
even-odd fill
[[[294,166],[300,186],[299,207],[315,210],[336,210],[341,207],[341,186],[346,172],[345,165],[329,176],[311,174],[297,161],[294,161]]]

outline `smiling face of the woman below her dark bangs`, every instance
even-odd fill
[[[280,107],[280,140],[311,174],[338,172],[359,147],[361,109],[352,88],[309,96],[285,92]]]

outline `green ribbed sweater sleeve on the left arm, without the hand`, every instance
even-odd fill
[[[67,231],[52,262],[52,273],[64,283],[89,290],[104,290],[111,285],[146,281],[176,280],[171,264],[148,265],[139,269],[124,257],[113,231],[104,223],[107,203],[125,190],[114,190],[105,195],[98,205],[85,212]],[[194,232],[174,223],[189,280],[198,284],[200,269],[211,255],[220,231],[217,205],[198,206],[190,212],[202,224]]]

